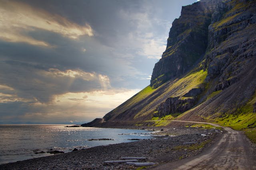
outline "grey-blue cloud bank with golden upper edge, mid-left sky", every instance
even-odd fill
[[[12,95],[15,100],[22,98],[23,101],[41,103],[51,102],[57,94],[110,88],[110,80],[106,75],[79,69],[42,69],[33,64],[14,61],[0,62],[0,82],[4,82],[0,84],[2,96]],[[2,100],[8,100],[6,97]]]

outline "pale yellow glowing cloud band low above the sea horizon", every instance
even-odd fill
[[[20,123],[67,122],[80,120],[88,122],[95,117],[103,117],[128,98],[139,92],[138,89],[112,89],[93,92],[65,93],[55,95],[50,103],[8,102],[0,103],[0,123],[9,119],[19,119]],[[87,96],[86,98],[84,96]],[[71,122],[72,123],[72,122]]]

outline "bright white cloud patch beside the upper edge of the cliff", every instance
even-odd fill
[[[167,35],[159,36],[157,27],[165,29],[167,33],[170,29],[170,22],[154,18],[150,8],[146,8],[142,12],[120,10],[119,13],[123,20],[128,21],[131,27],[135,27],[135,30],[130,32],[126,39],[128,42],[132,42],[130,44],[134,47],[131,48],[136,49],[136,54],[146,56],[148,59],[160,59],[166,48]]]

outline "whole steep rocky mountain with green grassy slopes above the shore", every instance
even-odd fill
[[[150,85],[83,126],[167,126],[170,119],[256,127],[256,1],[200,0],[174,20]],[[157,121],[156,121],[157,120]]]

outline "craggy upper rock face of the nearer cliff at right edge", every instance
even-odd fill
[[[234,77],[244,71],[256,55],[251,38],[255,34],[255,16],[252,0],[226,1],[217,6],[208,28],[209,52],[205,63],[207,79],[219,79],[215,90],[223,90],[236,82]]]

